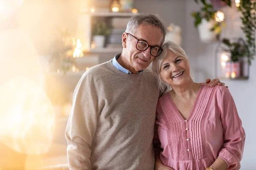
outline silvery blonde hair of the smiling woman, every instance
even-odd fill
[[[185,57],[187,60],[189,60],[189,58],[186,55],[183,48],[181,48],[179,45],[175,44],[172,41],[166,41],[163,44],[162,48],[163,48],[162,53],[160,54],[160,56],[156,57],[153,60],[153,62],[151,63],[151,68],[157,74],[160,91],[167,92],[171,89],[171,86],[168,83],[163,82],[161,80],[160,71],[161,71],[161,65],[163,64],[163,60],[166,58],[168,49],[178,56]]]

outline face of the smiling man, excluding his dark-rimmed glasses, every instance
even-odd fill
[[[160,28],[148,24],[140,25],[133,35],[137,39],[145,40],[151,46],[160,46],[163,40]],[[147,68],[155,57],[150,54],[150,47],[145,51],[139,51],[136,48],[137,40],[134,37],[126,33],[123,34],[122,41],[123,44],[125,43],[124,48],[126,49],[122,55],[125,57],[125,67],[132,73],[137,73]]]

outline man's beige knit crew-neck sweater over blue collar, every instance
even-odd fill
[[[158,96],[150,69],[125,74],[108,61],[86,71],[66,129],[70,169],[154,170]]]

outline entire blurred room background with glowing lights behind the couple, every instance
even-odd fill
[[[122,52],[128,20],[158,14],[195,82],[229,86],[255,170],[255,0],[0,0],[0,170],[68,169],[64,131],[82,74]]]

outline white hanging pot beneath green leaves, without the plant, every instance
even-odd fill
[[[198,25],[199,37],[201,42],[212,42],[217,41],[217,37],[211,28],[214,25],[214,21],[207,21],[206,19],[202,19],[201,23]]]

